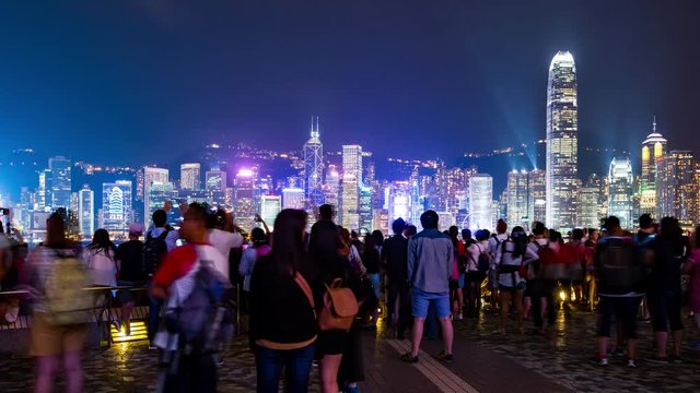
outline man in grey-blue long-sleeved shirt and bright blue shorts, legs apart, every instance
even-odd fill
[[[401,359],[418,362],[423,324],[428,307],[433,303],[442,326],[443,352],[440,359],[452,361],[453,327],[450,319],[450,278],[453,273],[454,250],[450,237],[438,230],[439,216],[432,210],[421,214],[423,230],[408,242],[408,277],[411,284],[413,330],[411,352]]]

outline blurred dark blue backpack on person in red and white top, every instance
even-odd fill
[[[232,285],[212,263],[199,263],[191,293],[179,307],[167,310],[164,315],[166,330],[179,335],[179,347],[188,355],[220,352],[233,334]]]

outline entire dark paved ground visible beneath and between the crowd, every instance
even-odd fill
[[[495,334],[494,315],[478,321],[455,321],[455,361],[435,357],[440,341],[425,341],[417,365],[399,355],[407,341],[378,338],[364,333],[365,381],[363,392],[695,392],[700,390],[700,354],[686,352],[682,365],[640,362],[629,369],[622,359],[607,368],[588,364],[595,353],[592,313],[560,313],[549,336]],[[690,322],[690,321],[688,321]],[[567,329],[564,330],[564,325]],[[0,333],[3,344],[5,333]],[[642,356],[651,356],[649,324],[641,329]],[[645,340],[646,338],[646,340]],[[4,346],[0,346],[2,353]],[[90,349],[84,356],[88,392],[151,392],[155,386],[156,353],[145,343],[115,344]],[[25,355],[0,356],[0,392],[31,391],[32,359]],[[312,392],[318,392],[314,368]],[[245,337],[236,338],[220,369],[220,392],[255,391],[255,367]]]

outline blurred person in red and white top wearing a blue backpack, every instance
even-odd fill
[[[150,295],[165,301],[163,329],[153,344],[163,350],[160,392],[215,392],[215,356],[233,323],[231,282],[217,267],[228,263],[208,242],[208,212],[190,204],[182,235],[187,245],[168,252]]]

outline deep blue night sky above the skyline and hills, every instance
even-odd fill
[[[614,3],[610,5],[609,3]],[[581,146],[652,115],[700,152],[700,1],[4,1],[3,150],[137,165],[215,141],[450,158],[545,136],[570,50]],[[586,165],[583,163],[582,165]]]

